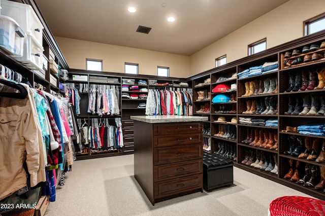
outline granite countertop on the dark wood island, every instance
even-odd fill
[[[147,123],[208,121],[208,117],[202,116],[130,116],[130,119]]]

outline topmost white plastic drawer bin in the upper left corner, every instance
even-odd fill
[[[37,43],[43,47],[43,25],[30,5],[1,1],[1,15],[9,16],[16,20],[22,30],[35,37]]]

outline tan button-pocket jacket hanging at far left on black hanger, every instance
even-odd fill
[[[24,161],[31,187],[46,182],[47,158],[41,126],[33,93],[27,85],[24,87],[28,92],[25,99],[0,97],[0,200],[26,186]],[[14,89],[0,83],[0,91]]]

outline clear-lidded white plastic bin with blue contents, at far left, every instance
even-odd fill
[[[0,46],[11,56],[22,56],[26,34],[18,23],[7,16],[0,15]]]

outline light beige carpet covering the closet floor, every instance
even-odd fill
[[[151,205],[134,177],[134,156],[75,161],[45,215],[268,215],[281,196],[311,197],[234,167],[234,185]]]

